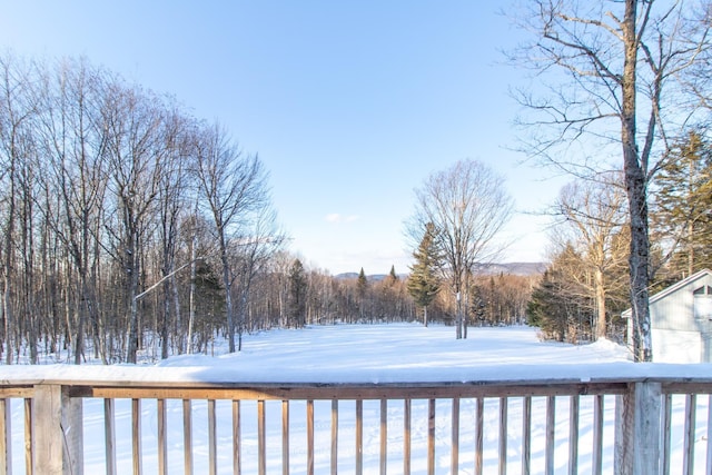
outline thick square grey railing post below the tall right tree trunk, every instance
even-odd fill
[[[616,396],[616,475],[660,474],[661,384],[632,383]]]

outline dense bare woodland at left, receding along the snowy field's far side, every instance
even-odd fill
[[[83,59],[1,56],[2,359],[135,363],[274,327],[419,319],[395,269],[348,279],[289,255],[268,178],[171,97]],[[523,315],[505,307],[478,320],[443,293],[431,319]]]

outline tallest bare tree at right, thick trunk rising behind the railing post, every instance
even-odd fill
[[[610,146],[622,155],[636,360],[652,359],[649,184],[668,137],[691,120],[675,82],[709,47],[710,9],[689,3],[533,0],[518,14],[535,39],[514,58],[542,79],[518,96],[534,113],[523,121],[533,126],[527,152],[580,176],[617,168],[607,164]]]

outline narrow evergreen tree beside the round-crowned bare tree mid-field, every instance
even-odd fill
[[[439,264],[436,230],[432,222],[425,226],[423,239],[413,257],[415,264],[411,267],[408,293],[416,305],[423,307],[423,325],[427,326],[427,306],[431,305],[439,290],[439,279],[436,275]]]

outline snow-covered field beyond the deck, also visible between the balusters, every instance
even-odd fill
[[[710,365],[635,365],[627,350],[610,342],[573,346],[543,343],[536,330],[528,327],[471,328],[467,339],[455,339],[452,327],[416,324],[398,325],[336,325],[308,327],[300,330],[273,330],[246,336],[239,354],[209,357],[205,355],[177,356],[156,366],[82,366],[51,365],[1,367],[0,377],[70,378],[118,380],[239,380],[239,382],[472,382],[517,380],[533,378],[580,378],[589,380],[609,375],[674,374],[698,376],[710,374]],[[555,473],[567,473],[568,397],[556,399]],[[168,403],[169,473],[181,474],[182,405]],[[485,474],[497,473],[498,398],[486,399],[484,412]],[[581,399],[578,444],[578,473],[591,473],[593,445],[593,398]],[[533,399],[532,473],[544,468],[545,398]],[[605,399],[603,473],[612,473],[614,398]],[[402,400],[388,403],[388,473],[403,471],[403,410]],[[682,432],[684,398],[674,399],[673,468],[682,469]],[[85,473],[106,473],[103,465],[103,405],[100,399],[86,399],[85,406]],[[267,402],[267,473],[281,473],[281,406]],[[16,473],[23,469],[22,404],[13,402],[13,458]],[[130,400],[117,400],[117,462],[119,473],[131,473],[131,415]],[[156,403],[144,400],[141,406],[144,433],[144,473],[157,472]],[[207,473],[207,404],[192,403],[192,453],[196,474]],[[231,474],[231,407],[229,402],[217,403],[218,414],[218,473]],[[291,474],[306,473],[306,407],[305,403],[290,405]],[[379,402],[364,403],[364,473],[378,473],[379,468]],[[699,398],[698,435],[695,436],[695,473],[704,473],[706,449],[708,397]],[[471,474],[474,468],[475,400],[461,402],[459,471]],[[257,473],[256,404],[243,403],[241,408],[243,473]],[[413,400],[412,469],[426,473],[427,400]],[[436,473],[449,473],[451,403],[438,400],[436,406]],[[339,466],[338,473],[355,471],[355,414],[353,402],[339,403]],[[521,471],[522,399],[508,403],[507,473]],[[330,402],[315,403],[315,473],[329,473]]]

